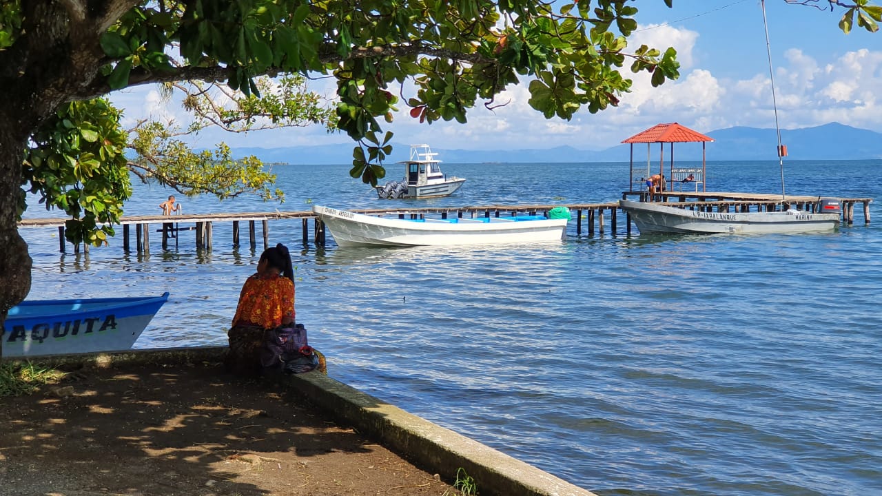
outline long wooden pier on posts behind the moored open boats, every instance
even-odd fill
[[[623,192],[622,198],[639,196],[645,199],[646,192]],[[661,192],[656,199],[662,205],[697,209],[705,212],[751,212],[774,211],[784,203],[780,195],[739,192]],[[790,207],[811,209],[818,197],[814,196],[788,196],[787,203]],[[863,220],[870,223],[869,198],[841,198],[842,222],[852,224],[854,222],[855,205],[863,203]],[[576,234],[581,236],[587,232],[594,236],[596,231],[601,235],[606,230],[605,219],[609,215],[609,229],[613,234],[617,233],[618,203],[587,203],[573,205],[489,205],[480,207],[421,207],[421,208],[368,208],[353,209],[353,212],[369,215],[398,215],[399,218],[418,219],[426,215],[438,215],[442,219],[449,217],[500,217],[516,214],[543,214],[554,207],[568,207],[575,215]],[[242,214],[180,214],[172,216],[164,215],[140,215],[125,216],[120,219],[122,226],[123,250],[131,251],[130,237],[131,227],[135,230],[135,250],[137,252],[150,252],[150,233],[160,233],[163,250],[168,250],[170,240],[179,241],[182,232],[195,231],[196,248],[212,250],[213,224],[217,222],[232,222],[233,245],[240,245],[240,225],[248,222],[248,236],[250,248],[256,249],[258,240],[257,224],[261,224],[261,234],[264,249],[269,247],[269,222],[280,220],[299,219],[303,244],[309,244],[310,223],[313,224],[312,233],[316,244],[325,244],[325,226],[311,211],[301,212],[273,212],[273,213],[242,213]],[[25,219],[19,222],[19,228],[56,228],[58,229],[58,248],[60,252],[66,252],[64,240],[64,222],[66,219]],[[183,224],[183,226],[182,226]],[[630,218],[626,216],[625,231],[631,233]],[[117,237],[119,237],[117,229]],[[79,252],[80,246],[73,247],[74,252]],[[83,246],[88,252],[89,246]]]

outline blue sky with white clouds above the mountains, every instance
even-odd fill
[[[838,27],[841,8],[826,11],[785,0],[766,0],[769,46],[774,66],[775,100],[782,129],[831,122],[882,132],[882,30],[875,34]],[[882,4],[875,1],[874,4]],[[759,0],[639,0],[639,28],[629,47],[672,46],[680,62],[680,78],[653,88],[643,75],[633,75],[632,92],[617,108],[597,114],[580,110],[572,120],[545,119],[527,104],[524,85],[510,86],[497,101],[510,101],[493,111],[478,106],[466,124],[420,124],[399,105],[392,124],[393,142],[428,143],[439,149],[527,149],[571,146],[582,150],[614,147],[654,124],[676,122],[698,132],[733,126],[774,128],[769,84],[766,32]],[[310,86],[333,96],[328,81]],[[163,101],[156,87],[139,86],[111,94],[123,109],[125,125],[146,116],[189,119],[179,103]],[[232,134],[202,132],[195,147],[296,147],[346,144],[343,133],[328,134],[320,126]]]

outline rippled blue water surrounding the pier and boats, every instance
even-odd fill
[[[444,157],[439,157],[444,158]],[[442,164],[460,192],[410,205],[613,201],[627,163]],[[882,198],[882,161],[792,162],[788,192]],[[708,191],[780,192],[777,162],[710,162]],[[275,170],[281,206],[185,199],[185,213],[385,207],[348,166]],[[389,178],[399,178],[392,169]],[[138,185],[126,214],[169,194]],[[297,319],[338,380],[602,495],[882,494],[882,212],[834,233],[325,249],[300,222]],[[32,206],[29,216],[58,216]],[[159,226],[155,226],[159,227]],[[171,298],[138,348],[220,345],[257,251],[214,226],[162,251],[57,252],[23,229],[33,298]],[[258,237],[259,238],[259,237]],[[480,481],[478,481],[480,483]]]

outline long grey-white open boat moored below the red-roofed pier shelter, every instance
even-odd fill
[[[640,233],[766,234],[829,231],[840,224],[839,214],[786,212],[701,212],[653,203],[619,200],[619,207]]]

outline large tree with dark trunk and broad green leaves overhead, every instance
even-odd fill
[[[30,288],[31,260],[16,228],[22,184],[56,192],[77,206],[70,214],[93,219],[81,229],[90,242],[101,242],[95,229],[118,212],[101,197],[128,194],[119,169],[94,173],[95,162],[122,160],[115,110],[71,102],[177,81],[224,82],[250,98],[266,94],[261,75],[333,77],[331,124],[355,140],[352,174],[376,184],[389,151],[381,122],[396,106],[425,123],[465,122],[468,109],[491,107],[506,86],[523,84],[542,116],[570,119],[617,105],[629,73],[651,73],[654,86],[676,79],[674,49],[628,45],[636,5],[649,1],[4,0],[0,316]],[[867,0],[829,4],[844,9],[843,30],[878,29],[882,11]],[[50,143],[56,138],[67,144]],[[152,138],[139,139],[154,150]],[[69,171],[53,169],[64,163]]]

